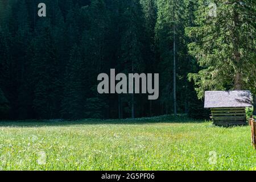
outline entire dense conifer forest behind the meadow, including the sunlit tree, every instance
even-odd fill
[[[255,11],[254,0],[0,0],[0,118],[208,117],[205,90],[256,94]],[[159,73],[158,100],[99,94],[112,68]]]

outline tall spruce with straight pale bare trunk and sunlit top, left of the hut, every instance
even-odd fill
[[[170,95],[172,96],[172,110],[177,114],[177,63],[179,63],[178,48],[179,39],[183,35],[183,12],[184,2],[179,1],[157,1],[158,5],[158,19],[155,27],[155,39],[158,46],[160,56],[160,89],[162,97],[160,100],[165,105],[166,114],[168,114],[168,107],[170,107]],[[172,73],[172,75],[170,74]]]

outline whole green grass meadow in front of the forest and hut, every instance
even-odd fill
[[[255,170],[250,127],[171,116],[0,122],[1,170]]]

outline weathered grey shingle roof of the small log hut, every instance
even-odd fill
[[[251,107],[251,93],[248,90],[206,91],[204,107]]]

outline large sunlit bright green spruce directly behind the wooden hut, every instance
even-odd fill
[[[199,1],[189,53],[201,70],[191,73],[198,97],[205,90],[250,89],[255,93],[255,1]],[[215,8],[216,6],[216,8]]]

